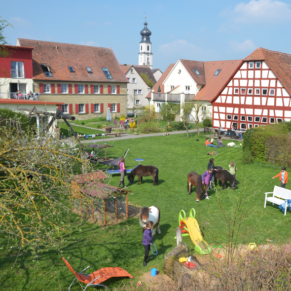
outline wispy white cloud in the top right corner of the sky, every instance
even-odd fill
[[[239,29],[241,25],[278,25],[291,20],[290,4],[278,0],[251,0],[236,4],[220,13],[225,18],[220,31]]]

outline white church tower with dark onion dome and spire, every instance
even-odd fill
[[[146,21],[144,25],[145,27],[141,31],[142,40],[140,42],[139,65],[149,66],[152,69],[151,42],[149,40],[151,32],[147,28]]]

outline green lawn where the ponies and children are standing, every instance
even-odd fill
[[[80,128],[81,129],[81,128]],[[86,133],[87,130],[86,130]],[[135,158],[145,159],[144,165],[154,165],[159,169],[159,183],[152,186],[152,178],[145,177],[144,183],[137,185],[137,179],[133,185],[126,185],[132,191],[129,195],[129,202],[136,206],[157,206],[161,211],[160,229],[161,234],[154,236],[154,242],[158,255],[151,255],[153,258],[143,267],[144,248],[142,246],[142,229],[139,226],[138,218],[130,218],[119,225],[107,227],[98,226],[90,222],[81,221],[74,216],[72,224],[75,226],[72,236],[57,250],[44,249],[38,257],[28,253],[20,253],[15,266],[13,266],[18,250],[7,250],[7,239],[0,238],[0,290],[45,290],[63,291],[68,290],[73,281],[73,274],[69,271],[62,260],[62,255],[71,263],[75,271],[81,271],[88,265],[87,270],[93,272],[102,267],[119,266],[126,269],[136,279],[144,272],[155,267],[162,272],[164,256],[176,245],[175,228],[179,226],[178,215],[181,209],[188,213],[191,208],[196,210],[196,218],[201,226],[205,240],[210,245],[225,244],[226,237],[222,235],[225,228],[221,212],[218,209],[218,199],[214,191],[210,191],[210,200],[203,199],[196,203],[195,191],[192,195],[187,192],[187,174],[191,171],[203,174],[207,170],[208,161],[211,156],[208,151],[213,148],[205,147],[205,138],[197,134],[169,135],[166,137],[145,137],[132,140],[114,140],[108,142],[113,145],[107,151],[107,155],[117,158],[123,155],[127,148],[130,148],[126,156],[126,167],[128,169],[137,165]],[[226,141],[224,141],[226,143]],[[235,142],[236,145],[240,144]],[[258,193],[250,204],[255,205],[255,218],[252,222],[252,231],[243,240],[243,243],[265,242],[266,238],[271,240],[284,240],[290,238],[291,214],[288,211],[285,217],[278,206],[268,205],[264,209],[264,192],[273,190],[274,185],[280,185],[279,179],[272,179],[280,172],[280,166],[255,163],[243,165],[241,163],[242,146],[224,147],[218,149],[218,156],[215,159],[216,166],[226,168],[230,161],[235,161],[238,168],[237,180],[240,182],[235,190],[221,191],[223,207],[231,208],[231,197],[242,190],[243,177],[249,176],[248,183],[258,182]],[[103,165],[96,168],[103,169]],[[119,175],[112,177],[110,184],[118,186]],[[290,188],[287,184],[287,188]],[[194,188],[195,190],[195,188]],[[216,225],[212,223],[215,219]],[[205,222],[209,223],[205,223]],[[247,223],[247,221],[245,222]],[[190,250],[194,245],[189,237],[183,241]],[[194,252],[194,251],[193,251]],[[127,280],[129,281],[129,280]],[[110,279],[106,285],[110,290],[117,287],[121,281]],[[72,291],[81,290],[75,284]]]

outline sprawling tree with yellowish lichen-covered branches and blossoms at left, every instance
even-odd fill
[[[76,144],[36,136],[15,118],[0,120],[0,232],[36,252],[70,233],[73,168],[89,166]]]

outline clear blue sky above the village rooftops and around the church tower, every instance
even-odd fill
[[[243,59],[261,46],[291,54],[291,1],[1,0],[5,36],[111,47],[120,64],[138,64],[140,31],[151,31],[153,67],[178,59]]]

